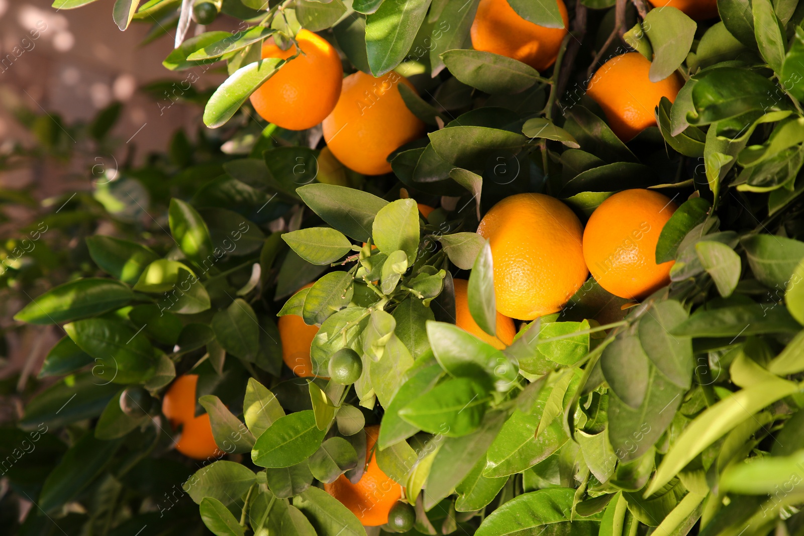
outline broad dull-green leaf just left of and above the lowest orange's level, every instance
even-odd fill
[[[231,505],[237,502],[256,481],[254,472],[234,461],[218,460],[200,468],[182,485],[195,504],[211,497]]]

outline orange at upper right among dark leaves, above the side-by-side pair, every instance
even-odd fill
[[[639,52],[609,59],[589,82],[589,96],[600,104],[609,127],[623,141],[656,125],[655,108],[662,96],[671,102],[683,86],[677,72],[660,82],[648,78],[650,61]]]

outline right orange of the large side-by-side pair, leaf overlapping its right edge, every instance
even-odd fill
[[[656,264],[656,243],[675,209],[652,190],[621,191],[597,207],[584,231],[584,258],[601,287],[637,300],[670,283],[673,261]]]

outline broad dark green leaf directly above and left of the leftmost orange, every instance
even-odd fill
[[[88,318],[64,325],[76,345],[95,358],[97,383],[141,383],[154,375],[156,353],[148,338],[121,321]]]

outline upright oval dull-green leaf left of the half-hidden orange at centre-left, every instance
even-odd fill
[[[260,325],[248,302],[237,298],[211,321],[215,338],[229,354],[253,362],[260,350]]]

